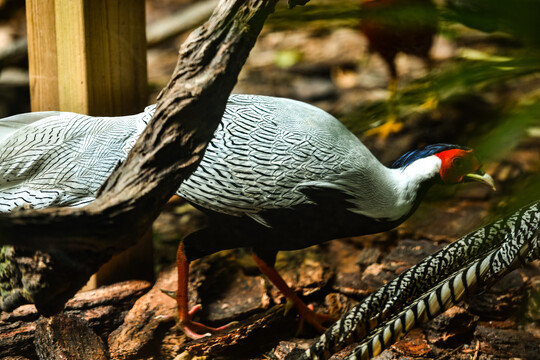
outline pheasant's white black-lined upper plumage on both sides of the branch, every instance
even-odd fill
[[[0,212],[91,202],[154,111],[1,119]],[[177,193],[203,208],[266,225],[258,213],[312,203],[306,188],[357,191],[354,185],[377,169],[386,168],[330,114],[290,99],[231,95],[205,156]]]

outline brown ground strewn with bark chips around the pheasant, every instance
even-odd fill
[[[148,2],[148,19],[155,21],[191,2]],[[168,80],[182,39],[180,36],[150,49],[149,78],[156,90],[153,96]],[[472,31],[462,30],[456,41],[438,37],[433,49],[437,62],[434,71],[444,71],[459,61],[464,43],[486,51],[493,47],[491,38]],[[380,119],[370,117],[366,109],[370,104],[384,102],[388,93],[384,64],[377,56],[365,60],[366,49],[364,38],[350,26],[319,24],[290,30],[269,26],[252,51],[235,92],[284,96],[320,106],[344,119],[382,161],[388,162],[427,143],[478,143],[478,138],[489,132],[501,100],[511,103],[524,94],[531,96],[540,83],[538,77],[532,76],[443,99],[435,109],[404,107],[406,122],[402,132],[385,140],[367,138],[362,131]],[[290,66],[284,66],[287,63]],[[422,62],[407,56],[400,56],[398,69],[403,91],[411,81],[426,75]],[[417,105],[422,103],[420,100]],[[397,229],[283,252],[278,257],[278,270],[316,309],[342,314],[441,246],[525,200],[538,199],[538,187],[533,185],[539,180],[540,137],[530,132],[521,136],[515,146],[497,150],[501,150],[499,156],[487,156],[486,170],[496,179],[498,192],[473,184],[434,189],[417,213]],[[527,194],[525,200],[520,196],[523,192]],[[209,256],[192,266],[191,300],[203,305],[200,318],[205,323],[240,324],[225,335],[187,340],[174,327],[174,301],[160,289],[175,289],[176,274],[171,264],[176,246],[185,234],[203,224],[204,217],[189,205],[181,200],[171,202],[155,224],[159,270],[156,284],[151,289],[147,283],[117,284],[79,294],[74,300],[83,304],[78,312],[68,306],[68,313],[89,320],[113,359],[182,359],[178,355],[185,350],[209,359],[282,359],[290,349],[306,347],[317,336],[307,327],[297,333],[294,311],[282,315],[283,297],[259,274],[248,252],[234,250]],[[540,268],[536,262],[411,331],[379,359],[538,359],[539,294]],[[94,297],[94,302],[85,303],[85,296]],[[107,305],[109,300],[98,299],[109,299],[114,306]],[[11,345],[0,349],[0,356],[35,358],[32,336],[36,319],[30,305],[1,315],[0,338],[9,339]]]

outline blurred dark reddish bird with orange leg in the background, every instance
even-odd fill
[[[437,27],[438,11],[431,0],[363,0],[360,31],[368,39],[370,51],[383,58],[390,73],[389,119],[370,134],[385,138],[403,127],[393,106],[398,82],[396,55],[417,56],[431,69],[429,52]]]

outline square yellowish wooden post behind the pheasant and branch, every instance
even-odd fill
[[[27,0],[26,9],[32,111],[116,116],[144,108],[144,0]],[[151,277],[149,233],[104,265],[87,288]]]

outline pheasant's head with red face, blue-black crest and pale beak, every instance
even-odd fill
[[[401,156],[392,168],[405,168],[417,160],[435,156],[440,160],[440,180],[445,184],[459,184],[467,181],[478,181],[495,190],[493,178],[482,171],[482,164],[474,151],[467,147],[434,144],[420,150],[409,151]],[[439,161],[437,161],[438,163]]]

